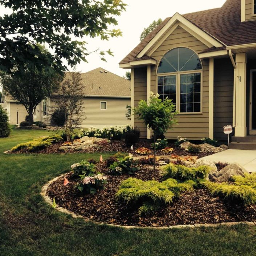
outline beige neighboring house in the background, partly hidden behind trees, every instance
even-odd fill
[[[67,73],[67,77],[69,74]],[[125,117],[126,105],[131,104],[130,81],[108,72],[102,68],[82,73],[82,83],[84,85],[83,111],[86,119],[82,122],[82,127],[126,125],[130,123]],[[27,111],[21,104],[17,104],[10,97],[3,95],[2,101],[7,109],[11,124],[17,124],[25,120]],[[47,121],[49,109],[54,106],[54,95],[42,101],[37,106],[37,113],[34,115],[35,121]],[[18,120],[17,120],[18,113]]]

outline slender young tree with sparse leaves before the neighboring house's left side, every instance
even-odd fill
[[[74,129],[80,126],[86,118],[82,105],[84,85],[81,81],[81,73],[67,73],[57,93],[52,97],[52,100],[55,101],[53,111],[56,109],[65,110],[64,130],[67,135],[67,141],[70,141]]]

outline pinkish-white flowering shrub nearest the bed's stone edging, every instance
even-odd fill
[[[107,184],[107,178],[102,174],[93,176],[80,175],[81,183],[77,186],[84,194],[95,194],[98,190],[103,190]]]

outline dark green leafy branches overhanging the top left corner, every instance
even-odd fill
[[[67,69],[61,59],[72,67],[86,61],[84,36],[102,40],[120,36],[119,29],[109,27],[117,25],[115,16],[126,6],[121,0],[0,0],[0,4],[12,9],[0,17],[0,70],[11,72],[27,64],[59,73]],[[51,53],[40,51],[37,44],[42,43]],[[102,60],[106,53],[112,55],[102,51]]]

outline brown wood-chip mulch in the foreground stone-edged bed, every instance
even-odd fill
[[[105,162],[96,164],[97,170],[107,176],[106,189],[95,195],[81,195],[75,188],[76,180],[72,173],[66,174],[70,181],[63,185],[64,177],[53,182],[47,191],[56,203],[76,214],[96,222],[116,225],[133,225],[139,227],[163,227],[182,224],[222,223],[237,221],[255,221],[256,206],[245,207],[225,202],[219,197],[211,196],[206,190],[198,189],[186,192],[170,206],[163,206],[157,212],[143,216],[138,215],[138,207],[117,202],[115,193],[120,183],[131,175],[109,175]],[[137,174],[132,175],[142,180],[160,180],[159,171],[152,166],[141,166]]]

